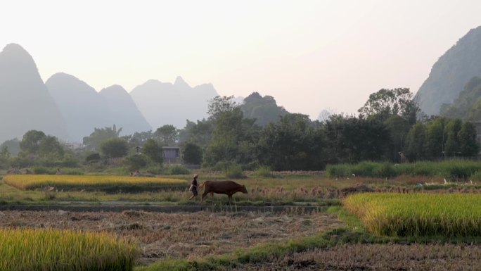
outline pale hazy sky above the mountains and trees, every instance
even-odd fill
[[[180,75],[315,119],[354,113],[381,88],[417,92],[480,11],[479,0],[2,0],[0,47],[23,46],[44,81],[64,72],[130,92]]]

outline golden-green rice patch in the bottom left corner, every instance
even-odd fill
[[[0,229],[0,270],[130,271],[135,244],[106,233]]]

